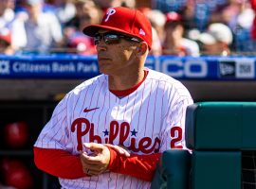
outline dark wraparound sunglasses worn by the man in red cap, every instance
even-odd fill
[[[135,37],[129,37],[122,34],[114,33],[114,32],[106,32],[106,33],[97,33],[94,36],[94,44],[97,45],[101,42],[101,39],[103,39],[104,43],[106,44],[116,44],[120,42],[120,39],[125,39],[131,42],[141,42]]]

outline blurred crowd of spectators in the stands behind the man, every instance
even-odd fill
[[[151,54],[202,56],[256,52],[256,0],[1,0],[0,53],[95,55],[82,28],[111,7],[139,9],[153,26]],[[125,22],[125,21],[123,21]]]

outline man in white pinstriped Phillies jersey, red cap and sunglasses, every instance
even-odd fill
[[[149,188],[155,163],[183,148],[188,90],[144,67],[152,27],[138,10],[109,9],[94,37],[101,76],[66,94],[34,147],[36,165],[64,188]]]

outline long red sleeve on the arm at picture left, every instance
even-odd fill
[[[86,176],[79,157],[62,149],[34,147],[34,162],[39,169],[59,178],[72,180]]]

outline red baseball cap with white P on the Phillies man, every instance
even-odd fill
[[[152,46],[152,26],[147,17],[137,9],[111,8],[108,9],[100,25],[83,28],[85,35],[94,37],[99,29],[109,29],[137,37]]]

